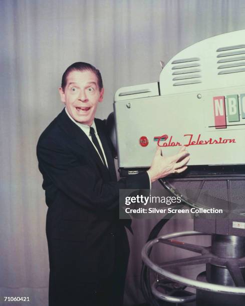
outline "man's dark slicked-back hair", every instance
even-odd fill
[[[74,62],[63,73],[62,80],[61,80],[61,87],[62,87],[63,91],[65,91],[65,87],[66,87],[66,84],[67,84],[67,76],[70,72],[72,72],[72,71],[85,71],[85,70],[89,70],[89,71],[94,72],[94,74],[97,76],[99,89],[101,91],[101,89],[103,88],[103,81],[102,81],[102,77],[101,77],[101,74],[100,74],[100,70],[96,69],[90,63],[83,62],[83,61]]]

